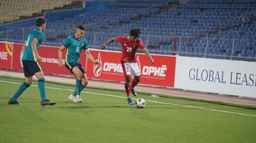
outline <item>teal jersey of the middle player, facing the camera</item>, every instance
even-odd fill
[[[65,55],[65,62],[79,62],[79,57],[81,55],[82,50],[88,49],[88,43],[85,38],[81,38],[80,40],[75,38],[75,35],[72,35],[66,38],[63,42],[63,45],[67,47],[67,54]]]

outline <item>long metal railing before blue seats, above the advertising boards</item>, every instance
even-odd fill
[[[6,33],[0,34],[0,40],[23,43],[30,31],[31,28],[23,28],[18,31],[10,29]],[[58,30],[57,32],[53,30],[51,33],[50,31],[50,29],[46,28],[43,45],[60,46],[65,38],[68,38],[68,36],[73,35],[75,32],[73,30]],[[87,32],[85,33],[84,38],[87,39],[89,47],[100,49],[100,45],[105,40],[128,34],[129,33]],[[232,33],[228,34],[232,35]],[[223,38],[220,35],[201,35],[198,37],[141,35],[140,39],[144,42],[144,45],[151,54],[208,57],[256,62],[256,40],[251,38],[228,39]],[[121,51],[121,46],[117,42],[112,42],[107,45],[106,49]],[[141,50],[139,51],[141,52]]]

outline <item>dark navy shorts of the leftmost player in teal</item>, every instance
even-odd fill
[[[24,76],[26,77],[33,76],[37,72],[43,71],[39,62],[23,60],[22,64],[23,64]]]

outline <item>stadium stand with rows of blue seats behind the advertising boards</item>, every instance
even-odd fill
[[[100,6],[94,2],[87,1],[82,12],[48,21],[44,44],[60,45],[75,25],[82,24],[91,47],[99,48],[102,41],[127,35],[136,27],[142,29],[140,38],[154,54],[256,61],[254,0],[117,0],[102,1]],[[60,6],[42,9],[54,7]],[[31,28],[1,30],[0,40],[22,41]],[[111,43],[108,49],[120,48]]]

